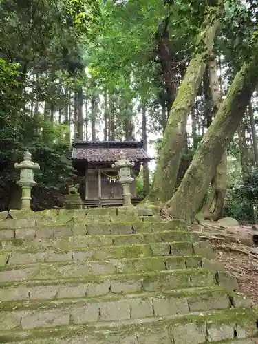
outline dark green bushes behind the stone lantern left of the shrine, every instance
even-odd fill
[[[6,114],[3,116],[1,114],[3,113],[0,113],[0,122],[3,120],[6,122]],[[54,136],[54,134],[61,131],[56,131],[52,125],[49,125],[49,131],[47,134],[45,133],[47,143],[43,142],[39,136],[36,136],[39,127],[43,127],[41,122],[35,122],[34,118],[29,116],[22,116],[19,119],[15,135],[12,123],[6,123],[0,130],[0,193],[2,200],[2,202],[0,200],[0,209],[8,208],[8,204],[12,200],[12,191],[15,189],[18,177],[14,163],[23,160],[26,147],[30,149],[33,161],[38,162],[41,167],[39,173],[35,175],[38,185],[33,189],[33,193],[36,192],[38,197],[34,197],[34,208],[42,209],[50,204],[56,206],[61,202],[60,193],[65,184],[70,182],[74,176],[71,162],[67,160],[70,149],[69,142],[60,140],[60,138],[57,140],[58,136]]]

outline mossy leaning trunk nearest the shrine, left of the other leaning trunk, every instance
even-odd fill
[[[195,56],[189,63],[166,124],[153,186],[147,196],[147,200],[151,202],[160,201],[164,203],[173,195],[185,136],[184,123],[191,111],[197,89],[202,80],[205,69],[204,58],[213,47],[213,39],[218,25],[217,15],[221,12],[219,7],[208,9],[204,28],[200,31],[197,39]],[[202,43],[201,50],[200,43]]]

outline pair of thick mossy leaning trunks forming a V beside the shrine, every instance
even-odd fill
[[[206,27],[204,26],[200,33],[202,49],[196,48],[171,108],[153,186],[147,196],[147,200],[151,202],[160,201],[166,204],[173,217],[185,219],[186,222],[191,222],[199,211],[208,186],[216,174],[217,166],[244,117],[258,82],[258,35],[254,26],[251,38],[248,37],[248,54],[243,58],[241,69],[235,75],[226,98],[218,107],[215,119],[202,138],[189,169],[174,193],[184,138],[182,123],[189,115],[211,52],[218,17],[222,13],[219,5],[218,3],[215,7],[207,7]],[[200,42],[200,38],[197,42]]]

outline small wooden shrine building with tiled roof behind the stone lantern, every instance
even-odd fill
[[[85,206],[122,205],[122,187],[118,182],[118,170],[112,164],[120,151],[127,160],[134,162],[131,176],[136,178],[142,163],[151,158],[144,151],[144,142],[136,141],[78,141],[72,142],[72,166],[77,171],[75,184]],[[131,184],[132,203],[138,204],[136,180]]]

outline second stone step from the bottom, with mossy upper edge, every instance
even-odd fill
[[[221,288],[178,292],[128,294],[54,301],[1,302],[0,331],[19,327],[31,330],[51,325],[83,325],[96,321],[121,321],[184,315],[189,312],[229,309],[233,294]],[[58,319],[58,321],[56,320]]]

